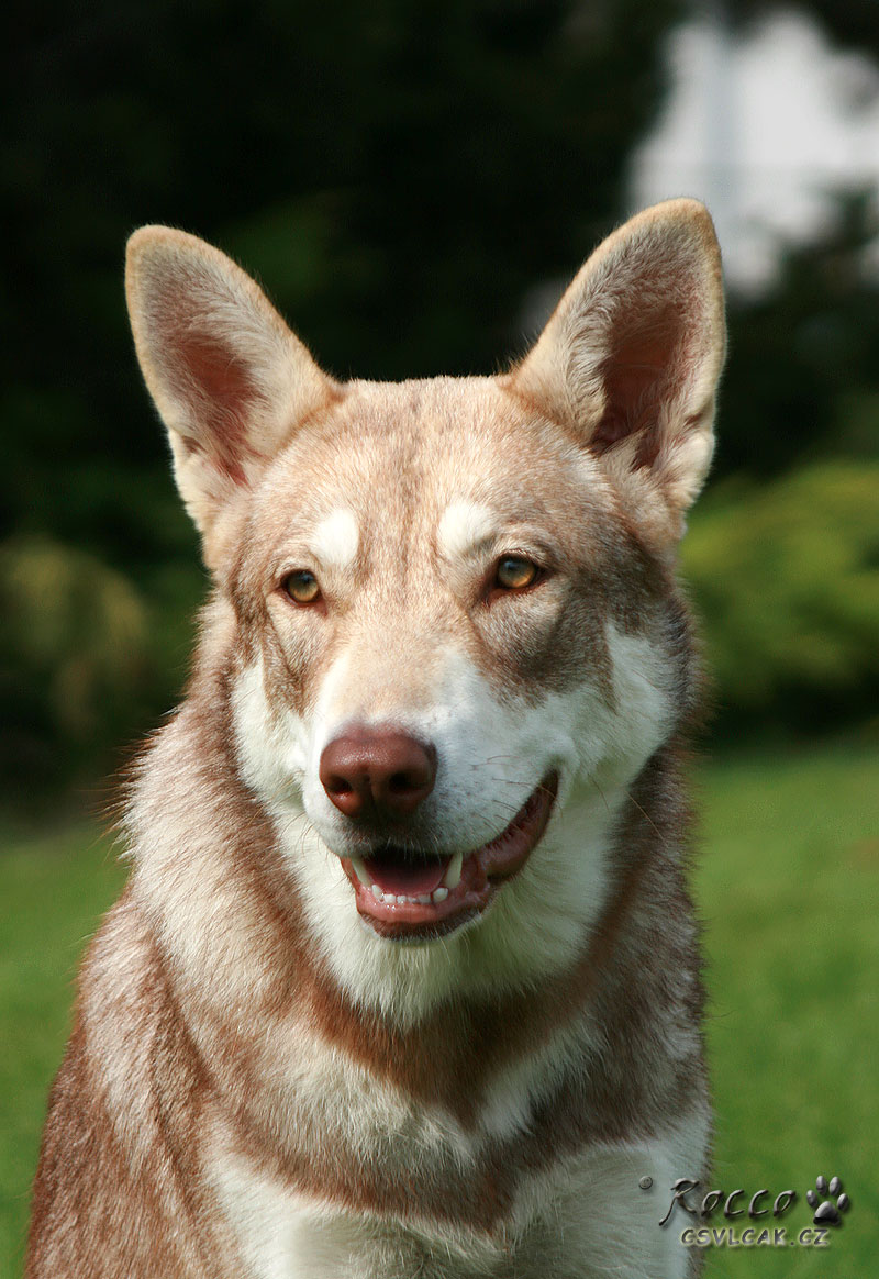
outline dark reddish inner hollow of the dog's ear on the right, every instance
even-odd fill
[[[636,466],[655,460],[659,411],[683,376],[683,331],[681,312],[672,302],[615,327],[601,366],[605,404],[591,439],[596,453],[642,432]]]

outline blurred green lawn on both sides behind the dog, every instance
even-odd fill
[[[811,1221],[805,1192],[818,1173],[838,1173],[852,1200],[829,1248],[711,1250],[708,1274],[866,1279],[879,1246],[879,748],[740,756],[701,780],[714,1186],[797,1189],[788,1233]],[[88,826],[5,843],[0,1279],[20,1273],[77,957],[124,879]]]

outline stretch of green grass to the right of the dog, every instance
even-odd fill
[[[715,1184],[798,1191],[786,1218],[797,1229],[818,1173],[838,1173],[852,1200],[829,1248],[713,1250],[706,1274],[866,1279],[879,1241],[879,751],[715,765],[702,812]]]

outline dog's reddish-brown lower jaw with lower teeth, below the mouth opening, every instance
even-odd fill
[[[518,875],[542,839],[558,788],[559,775],[551,771],[499,835],[464,856],[444,858],[436,866],[441,880],[430,891],[388,891],[381,884],[383,875],[372,871],[370,861],[343,858],[363,922],[381,938],[418,943],[447,936],[477,918],[500,886]]]

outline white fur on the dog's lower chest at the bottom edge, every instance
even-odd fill
[[[650,1142],[596,1146],[522,1181],[491,1232],[358,1212],[224,1156],[214,1184],[253,1279],[683,1279],[690,1255],[663,1229],[664,1188],[697,1169],[706,1119]],[[653,1179],[653,1191],[640,1187]]]

